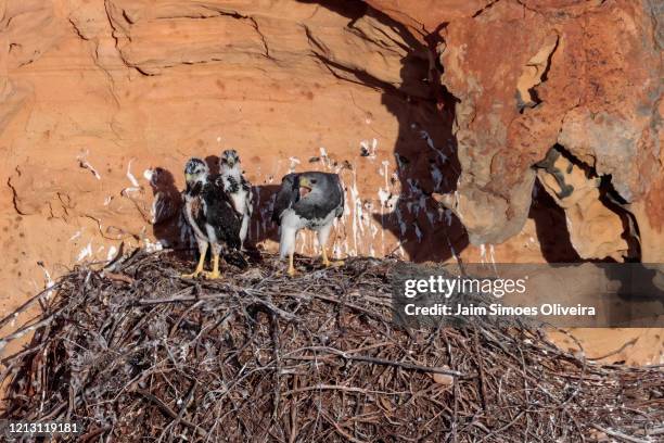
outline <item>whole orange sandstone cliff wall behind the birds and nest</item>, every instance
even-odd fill
[[[2,307],[77,263],[181,245],[182,166],[228,148],[267,250],[281,176],[312,168],[346,187],[340,256],[664,261],[662,13],[0,1],[0,284],[17,294]]]

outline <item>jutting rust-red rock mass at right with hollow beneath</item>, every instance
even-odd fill
[[[592,217],[617,226],[628,212],[639,213],[638,226],[655,236],[631,254],[662,260],[662,237],[652,227],[664,214],[652,205],[640,215],[646,201],[662,198],[654,197],[664,159],[660,18],[661,5],[647,1],[497,1],[445,27],[443,83],[461,100],[456,136],[463,170],[458,195],[447,200],[471,241],[502,242],[522,229],[532,166],[562,147],[618,202],[590,210],[592,216],[585,210],[596,203],[588,199],[574,210],[564,199],[580,199],[574,194],[583,186],[558,202],[579,254],[626,255],[615,237],[622,229],[601,229],[602,223],[595,236],[578,233],[592,227]]]

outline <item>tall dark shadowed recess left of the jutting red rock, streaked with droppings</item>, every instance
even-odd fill
[[[398,121],[394,156],[400,194],[388,216],[374,217],[383,229],[401,238],[401,248],[410,261],[459,260],[459,254],[470,244],[468,232],[451,211],[432,198],[433,193],[455,192],[461,174],[452,134],[458,99],[442,85],[444,68],[435,53],[442,41],[438,31],[445,25],[425,36],[422,43],[406,26],[385,14],[372,9],[368,14],[388,23],[410,48],[401,59],[401,85],[398,88],[383,85],[381,99]],[[404,219],[411,228],[405,238]]]

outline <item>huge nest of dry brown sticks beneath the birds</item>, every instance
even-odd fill
[[[164,253],[79,268],[2,340],[35,329],[2,360],[4,417],[80,421],[88,442],[662,441],[662,367],[589,363],[526,328],[400,329],[395,264],[219,281],[180,279]]]

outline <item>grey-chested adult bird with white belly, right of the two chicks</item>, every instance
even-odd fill
[[[281,258],[289,256],[290,276],[296,274],[293,265],[295,239],[303,228],[318,233],[324,266],[343,264],[330,262],[325,250],[334,218],[341,218],[343,213],[344,191],[337,174],[307,172],[289,174],[282,178],[272,220],[281,229],[279,255]]]

